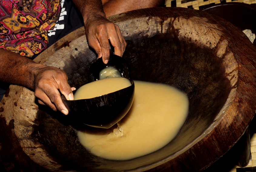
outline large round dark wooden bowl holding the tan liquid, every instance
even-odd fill
[[[0,108],[0,157],[7,170],[200,171],[248,128],[256,110],[256,49],[237,27],[185,8],[142,9],[109,19],[127,40],[123,57],[131,79],[173,85],[188,94],[188,119],[177,137],[143,157],[102,159],[81,146],[80,126],[69,116],[38,106],[32,91],[12,85]],[[69,84],[80,87],[96,58],[86,37],[77,38],[83,34],[82,28],[73,32],[35,61],[63,69]]]

